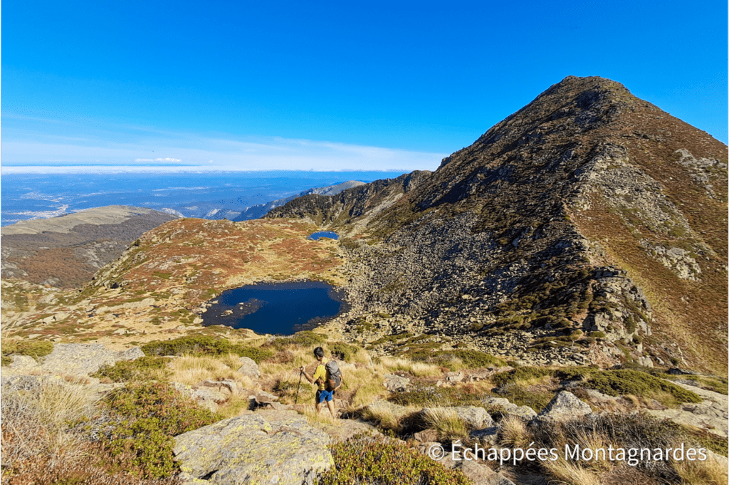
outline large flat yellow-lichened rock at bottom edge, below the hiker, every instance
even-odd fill
[[[183,433],[174,454],[187,483],[301,485],[334,465],[329,444],[329,435],[290,411],[270,422],[248,414]]]

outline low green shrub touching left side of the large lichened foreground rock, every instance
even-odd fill
[[[140,467],[143,478],[163,478],[178,471],[173,461],[173,436],[216,421],[169,384],[145,382],[114,389],[104,405],[119,422],[106,446],[115,457]],[[127,461],[125,461],[127,462]]]

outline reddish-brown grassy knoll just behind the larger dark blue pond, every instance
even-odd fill
[[[145,233],[117,273],[100,278],[123,282],[124,295],[169,298],[170,290],[184,290],[190,309],[211,298],[211,291],[226,290],[231,280],[323,276],[340,262],[327,245],[306,239],[316,229],[287,220],[175,220]]]

